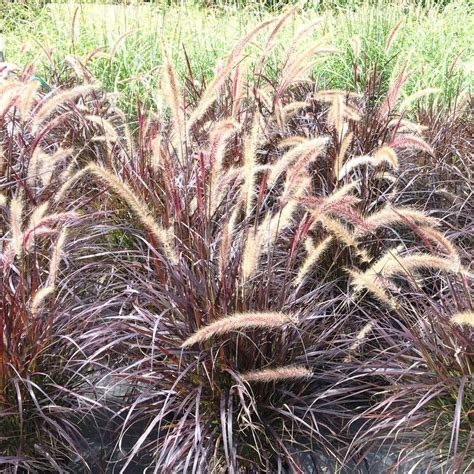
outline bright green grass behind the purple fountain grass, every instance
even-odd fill
[[[137,97],[147,105],[155,99],[162,37],[172,51],[177,71],[187,74],[186,51],[194,77],[202,81],[212,76],[217,61],[245,32],[274,14],[262,2],[234,2],[225,10],[188,1],[173,6],[164,2],[69,2],[43,8],[32,8],[32,2],[28,3],[28,8],[11,5],[3,12],[8,60],[19,64],[35,60],[40,73],[48,77],[51,71],[64,70],[65,56],[85,61],[96,51],[88,67],[107,90],[123,93],[122,105],[129,106]],[[472,6],[466,0],[454,0],[443,7],[417,3],[325,2],[322,6],[306,2],[279,33],[282,47],[272,53],[266,72],[270,77],[277,75],[283,47],[301,25],[320,17],[321,23],[307,35],[306,44],[316,40],[338,52],[313,70],[319,87],[363,89],[365,84],[354,83],[355,40],[360,43],[361,69],[369,71],[376,64],[388,78],[396,65],[408,62],[411,76],[405,93],[438,88],[440,101],[448,102],[459,89],[474,84]],[[386,51],[387,37],[398,22],[400,26]],[[261,47],[263,40],[263,35],[257,37],[248,47],[249,54]]]

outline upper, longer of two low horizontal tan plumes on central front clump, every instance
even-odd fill
[[[288,316],[278,312],[262,313],[236,313],[212,322],[198,329],[191,337],[188,337],[181,347],[189,347],[197,342],[207,341],[213,336],[227,334],[241,329],[273,329],[286,324],[296,324],[294,316]]]

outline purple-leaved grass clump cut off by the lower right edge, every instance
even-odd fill
[[[450,278],[438,298],[417,293],[415,323],[407,308],[400,308],[399,328],[378,326],[373,339],[365,341],[363,353],[373,361],[372,376],[381,391],[363,416],[366,422],[354,438],[353,453],[383,439],[393,443],[398,466],[472,467],[472,327],[463,324],[470,310],[454,303],[466,304],[465,285]],[[381,347],[374,351],[377,339]],[[359,360],[363,368],[366,362]]]

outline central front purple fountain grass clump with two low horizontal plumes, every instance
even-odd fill
[[[135,309],[90,332],[90,340],[104,341],[112,330],[118,340],[110,342],[111,353],[126,354],[114,374],[132,384],[117,443],[125,454],[118,461],[122,471],[135,459],[158,470],[185,469],[190,463],[198,469],[221,464],[301,469],[308,456],[311,462],[305,439],[338,458],[335,446],[347,443],[346,405],[352,402],[346,404],[343,394],[357,391],[359,384],[337,386],[345,384],[343,368],[327,372],[325,367],[344,354],[329,343],[330,318],[317,325],[320,331],[313,330],[317,305],[302,312],[285,285],[296,276],[297,263],[293,259],[286,269],[282,252],[296,245],[293,232],[302,210],[296,199],[307,194],[312,157],[303,151],[284,159],[284,166],[263,163],[259,150],[271,131],[263,115],[247,101],[236,113],[237,125],[229,125],[232,118],[225,112],[235,108],[220,115],[222,102],[215,100],[216,89],[225,90],[226,76],[241,61],[242,47],[265,26],[270,24],[258,26],[236,46],[195,108],[171,98],[168,107],[175,110],[169,128],[162,120],[143,120],[143,148],[132,144],[131,155],[117,148],[109,161],[113,168],[93,165],[77,175],[79,180],[96,175],[97,183],[110,186],[114,201],[123,201],[139,217],[141,230],[126,216],[116,213],[115,219],[127,219],[137,237],[144,232],[133,243],[140,260],[131,266],[124,261],[122,267],[129,284],[139,289]],[[174,77],[168,69],[165,90],[178,90]],[[284,78],[287,84],[289,78],[300,80],[302,71]],[[279,89],[281,100],[285,87]],[[271,127],[277,113],[268,118]],[[232,133],[221,132],[229,126]],[[326,142],[318,141],[318,153]],[[276,177],[267,186],[271,173]],[[226,193],[220,192],[223,186]],[[278,196],[284,199],[279,202]],[[149,219],[168,229],[173,258]],[[263,278],[267,272],[273,285]],[[288,314],[297,316],[298,324]],[[313,375],[316,367],[321,373]],[[328,399],[339,407],[338,416],[318,412]]]

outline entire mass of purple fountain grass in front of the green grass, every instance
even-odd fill
[[[6,472],[472,468],[470,97],[357,40],[321,87],[311,24],[269,76],[293,14],[201,84],[162,44],[132,121],[73,58],[2,81]]]

